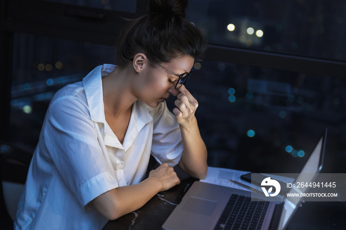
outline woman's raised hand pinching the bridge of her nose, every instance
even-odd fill
[[[181,85],[178,90],[180,93],[176,96],[177,99],[174,102],[176,108],[173,109],[173,114],[176,122],[184,125],[195,119],[198,102],[184,85]]]

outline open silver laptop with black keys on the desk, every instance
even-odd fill
[[[295,182],[301,181],[301,176],[306,173],[313,175],[308,178],[312,182],[321,171],[326,136],[327,129],[324,130]],[[270,201],[256,198],[254,193],[196,181],[162,228],[164,230],[284,230],[303,201],[303,197],[291,200],[285,196],[275,202],[272,199]]]

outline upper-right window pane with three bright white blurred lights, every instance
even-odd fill
[[[346,61],[342,0],[190,0],[187,15],[212,44]]]

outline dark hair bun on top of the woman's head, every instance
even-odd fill
[[[175,14],[185,18],[188,0],[149,0],[148,14]]]

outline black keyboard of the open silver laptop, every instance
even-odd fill
[[[215,230],[260,230],[269,201],[232,194]]]

